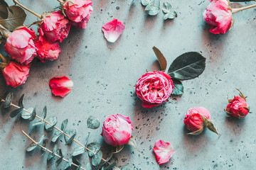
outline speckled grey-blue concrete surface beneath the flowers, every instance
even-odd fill
[[[21,1],[38,13],[50,11],[58,1]],[[14,101],[25,93],[25,106],[36,107],[38,113],[48,106],[48,115],[58,117],[57,126],[68,118],[69,128],[77,130],[80,142],[90,132],[90,140],[103,142],[101,128],[87,129],[86,120],[94,115],[101,120],[110,114],[129,116],[135,127],[133,132],[139,149],[125,146],[115,154],[117,166],[130,164],[132,169],[255,169],[255,71],[256,71],[256,10],[249,9],[234,14],[235,26],[225,35],[213,35],[203,21],[202,12],[207,0],[169,1],[178,18],[164,21],[163,14],[147,16],[139,0],[129,6],[129,1],[95,1],[94,11],[86,30],[72,28],[70,35],[60,45],[62,54],[54,62],[43,64],[33,61],[26,84],[12,89]],[[12,1],[8,1],[11,5]],[[235,4],[245,6],[252,3]],[[118,18],[126,26],[114,44],[102,34],[102,25]],[[28,13],[26,23],[36,20]],[[137,79],[146,69],[158,69],[151,47],[158,47],[168,63],[184,52],[202,52],[206,70],[200,77],[183,81],[181,97],[173,96],[169,103],[146,109],[134,95]],[[51,94],[48,81],[52,77],[68,76],[74,82],[73,90],[65,98]],[[1,94],[7,89],[0,75]],[[251,106],[252,114],[244,120],[225,118],[227,98],[238,95],[240,89]],[[191,107],[204,106],[212,114],[221,136],[205,130],[199,136],[186,135],[183,118]],[[30,141],[21,130],[38,139],[46,133],[43,127],[31,128],[31,123],[9,115],[0,114],[0,169],[61,169],[54,162],[46,162],[41,152],[26,153]],[[46,133],[50,137],[51,133]],[[167,164],[156,163],[152,147],[156,140],[171,142],[175,154]],[[67,156],[78,147],[58,145]],[[82,165],[88,162],[80,157]]]

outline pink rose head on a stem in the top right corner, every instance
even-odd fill
[[[224,34],[234,23],[228,0],[210,0],[203,11],[203,18],[211,26],[210,33],[214,34]]]

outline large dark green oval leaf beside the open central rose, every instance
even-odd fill
[[[171,63],[168,74],[172,78],[187,80],[198,77],[205,68],[205,57],[198,52],[186,52]]]

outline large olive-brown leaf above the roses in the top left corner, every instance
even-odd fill
[[[10,6],[8,13],[8,18],[2,19],[0,18],[1,26],[4,26],[7,30],[14,30],[18,26],[23,26],[23,23],[26,19],[25,11],[19,6]]]

